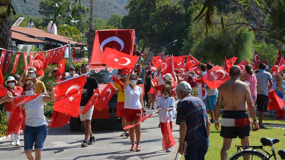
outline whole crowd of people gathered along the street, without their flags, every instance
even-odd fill
[[[134,55],[145,58],[147,53],[141,54],[134,47]],[[114,83],[117,89],[117,117],[121,117],[122,126],[134,125],[146,116],[146,108],[159,110],[159,127],[162,135],[164,134],[164,123],[169,118],[170,128],[172,130],[173,119],[176,118],[176,124],[180,125],[180,139],[178,152],[183,154],[184,144],[188,143],[185,159],[204,159],[209,147],[210,125],[215,124],[217,130],[221,130],[220,136],[223,137],[223,147],[221,149],[221,159],[227,159],[227,153],[231,146],[233,138],[239,137],[242,145],[249,145],[249,133],[251,130],[266,129],[263,124],[264,112],[267,110],[268,87],[276,90],[276,94],[284,99],[285,77],[284,69],[272,75],[266,71],[266,65],[261,63],[258,71],[253,71],[252,66],[247,64],[245,74],[241,68],[234,65],[230,68],[230,78],[219,88],[211,89],[203,81],[198,81],[213,65],[201,64],[199,66],[200,74],[196,75],[194,71],[184,71],[176,68],[170,74],[161,74],[161,68],[152,71],[148,66],[145,73],[145,86],[142,94],[141,87],[136,85],[141,77],[140,64],[135,66],[135,72],[132,74],[123,74],[122,69],[118,69],[118,82]],[[88,64],[82,64],[81,73],[89,71]],[[46,120],[44,117],[44,103],[54,100],[54,87],[59,83],[54,83],[51,87],[50,96],[47,96],[42,77],[36,77],[36,68],[30,67],[20,75],[8,77],[5,84],[8,86],[6,96],[0,99],[0,103],[5,102],[5,111],[7,119],[11,110],[11,101],[13,97],[19,95],[41,94],[40,96],[20,105],[25,109],[25,123],[21,126],[24,132],[24,151],[28,159],[39,159],[43,149],[44,140],[47,136]],[[76,77],[74,67],[70,67],[69,74],[62,77],[62,80]],[[154,79],[156,84],[154,84]],[[269,82],[269,85],[268,85]],[[203,87],[202,87],[203,86]],[[87,75],[86,83],[83,87],[80,110],[82,110],[93,95],[93,91],[98,87],[97,80]],[[191,95],[192,89],[198,87],[198,97]],[[143,103],[143,97],[147,98],[146,108]],[[175,98],[179,100],[175,105]],[[223,116],[219,120],[219,114],[223,106]],[[259,111],[259,122],[255,112],[255,103]],[[155,108],[156,104],[156,108]],[[151,108],[150,108],[151,106]],[[91,130],[91,118],[94,106],[86,113],[79,114],[80,120],[85,127],[85,139],[81,143],[82,147],[93,144],[96,139]],[[209,111],[210,117],[207,114]],[[176,114],[177,111],[177,114]],[[250,117],[252,117],[254,128],[250,126]],[[238,122],[237,122],[238,120]],[[284,118],[282,119],[284,120]],[[221,127],[219,126],[221,121]],[[11,145],[20,145],[19,134],[11,135]],[[140,124],[124,130],[122,137],[130,137],[130,151],[141,151]],[[135,141],[136,137],[136,141]],[[89,139],[89,142],[88,142]],[[136,143],[135,143],[136,142]],[[34,145],[35,157],[32,154]],[[171,152],[172,148],[167,148],[166,152]]]

